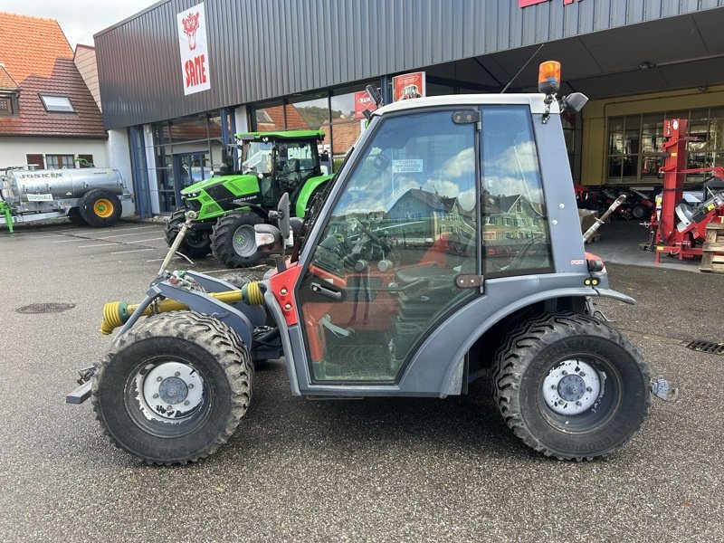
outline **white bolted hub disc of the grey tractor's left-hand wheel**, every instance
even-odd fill
[[[166,362],[138,372],[138,398],[148,420],[180,422],[195,413],[204,399],[204,380],[194,367]]]

